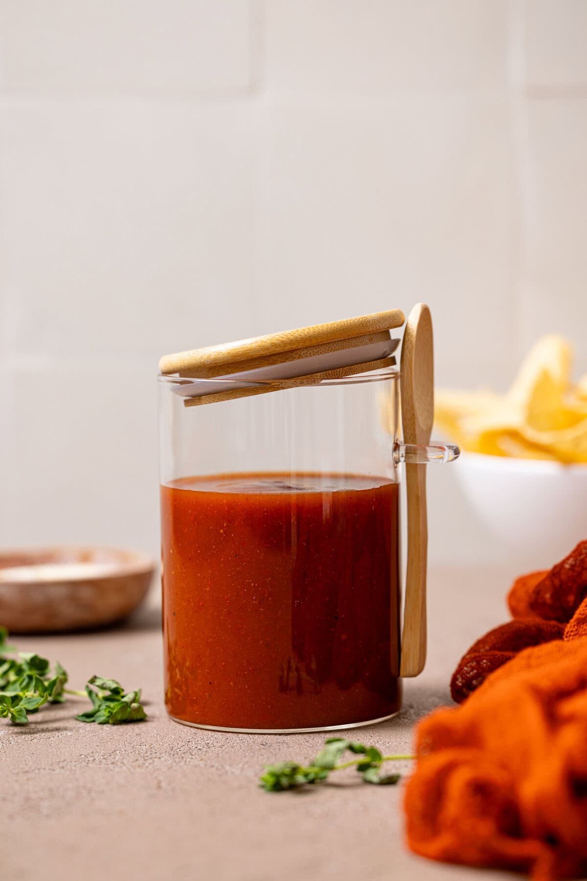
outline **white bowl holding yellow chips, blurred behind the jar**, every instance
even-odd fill
[[[587,538],[587,464],[462,453],[466,499],[521,564],[547,569]]]

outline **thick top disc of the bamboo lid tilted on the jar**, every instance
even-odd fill
[[[285,330],[266,337],[210,345],[191,352],[164,355],[159,361],[159,370],[162,374],[212,379],[237,371],[308,357],[310,354],[336,352],[362,345],[363,342],[368,344],[379,334],[401,327],[404,320],[400,309],[391,309],[388,312],[346,318],[340,322]]]

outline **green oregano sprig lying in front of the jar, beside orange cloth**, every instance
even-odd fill
[[[340,759],[347,751],[361,758],[339,764]],[[384,762],[400,759],[415,759],[415,756],[384,756],[376,746],[364,746],[352,740],[345,740],[343,737],[329,737],[325,742],[324,749],[318,753],[310,765],[298,765],[297,762],[279,762],[276,765],[265,766],[264,773],[260,777],[260,786],[266,792],[284,792],[286,789],[295,789],[308,783],[326,780],[333,771],[341,771],[342,768],[352,766],[356,767],[365,783],[389,786],[400,780],[400,774],[381,774],[381,766]]]

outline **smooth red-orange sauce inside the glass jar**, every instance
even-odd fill
[[[237,729],[400,707],[398,487],[227,474],[161,487],[165,702]]]

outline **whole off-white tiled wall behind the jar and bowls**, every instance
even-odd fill
[[[157,553],[164,352],[417,300],[587,370],[584,0],[0,0],[0,541]],[[454,466],[458,467],[458,466]],[[451,468],[431,557],[495,559]]]

